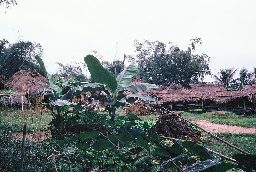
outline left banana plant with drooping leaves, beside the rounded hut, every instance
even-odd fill
[[[65,109],[65,107],[70,106],[76,107],[78,109],[82,108],[80,104],[72,102],[72,96],[80,95],[81,92],[96,92],[98,90],[104,89],[103,84],[89,82],[83,82],[81,86],[74,88],[74,83],[76,83],[74,82],[74,77],[72,77],[67,82],[61,77],[53,78],[52,75],[46,72],[44,62],[42,61],[42,59],[38,55],[36,55],[35,58],[38,61],[40,67],[42,68],[45,77],[50,83],[48,85],[46,83],[40,82],[39,84],[42,84],[46,88],[37,89],[37,92],[41,95],[44,95],[44,97],[48,98],[51,101],[50,103],[42,104],[43,108],[46,107],[51,111],[51,115],[54,118],[53,124],[56,127],[58,127],[58,125],[61,123],[63,119],[63,117],[61,116],[61,112],[63,111],[63,109]],[[57,111],[55,111],[55,109]]]

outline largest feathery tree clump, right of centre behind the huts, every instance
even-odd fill
[[[136,77],[142,77],[145,82],[158,85],[180,82],[186,87],[189,83],[204,82],[204,75],[210,74],[210,58],[206,54],[191,53],[191,50],[195,50],[196,43],[201,44],[201,39],[191,39],[188,50],[181,51],[170,42],[167,51],[162,42],[144,40],[141,43],[135,40],[134,46],[138,54],[133,59],[128,56],[128,59],[139,65]]]

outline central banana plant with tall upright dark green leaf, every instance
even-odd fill
[[[102,67],[100,61],[92,56],[87,55],[84,57],[84,62],[87,64],[87,68],[92,76],[92,80],[96,83],[104,84],[107,88],[102,89],[102,92],[108,97],[109,103],[106,104],[105,110],[108,110],[111,117],[111,121],[115,121],[115,111],[116,108],[124,105],[126,102],[126,96],[128,97],[137,97],[143,101],[156,101],[156,97],[137,95],[135,93],[141,91],[144,92],[149,88],[158,88],[158,85],[155,84],[135,84],[128,87],[132,81],[132,77],[136,74],[138,65],[131,63],[127,66],[117,77],[116,79]],[[126,91],[131,92],[132,94],[126,95]]]

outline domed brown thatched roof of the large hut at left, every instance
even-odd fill
[[[35,78],[32,77],[32,74],[35,74]],[[36,88],[43,88],[42,85],[38,84],[38,82],[44,82],[49,84],[48,80],[40,75],[38,72],[36,72],[35,69],[24,69],[16,72],[11,78],[6,80],[6,85],[10,90],[18,91],[20,93],[26,93],[28,91],[28,88],[31,85],[34,85],[34,79]],[[32,89],[31,89],[32,91]]]

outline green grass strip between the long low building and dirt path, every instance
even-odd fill
[[[256,128],[256,114],[239,116],[232,112],[225,112],[225,114],[213,112],[209,114],[209,112],[183,111],[181,115],[188,120],[208,120],[215,124]]]

